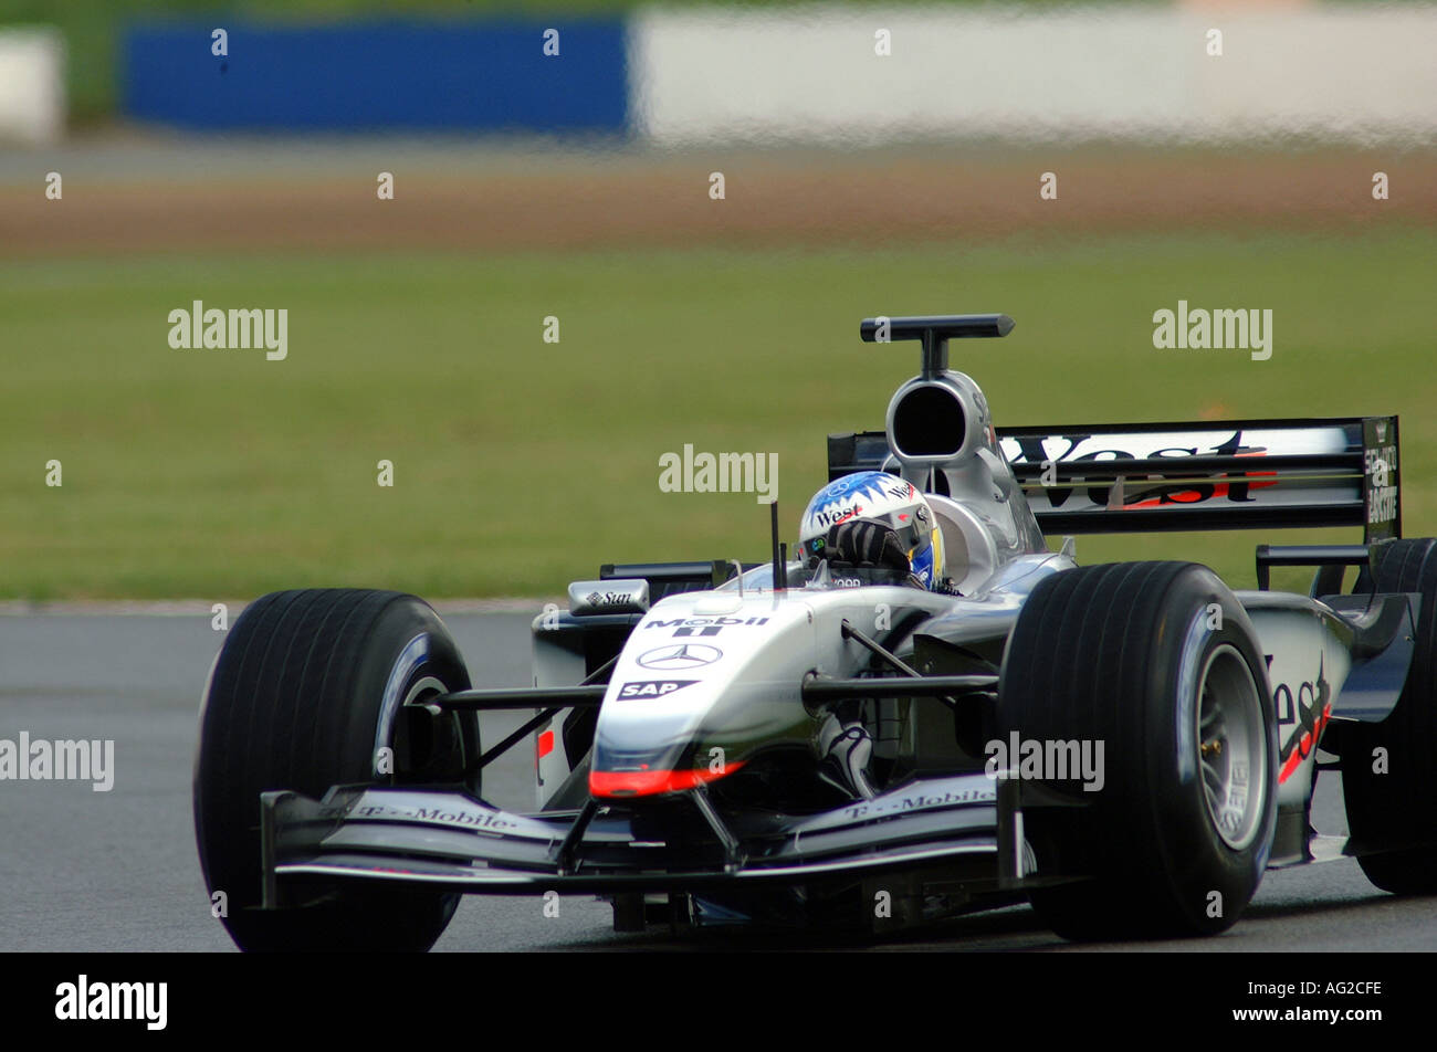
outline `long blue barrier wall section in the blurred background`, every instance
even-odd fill
[[[210,52],[217,26],[226,57]],[[624,23],[135,24],[121,98],[128,116],[185,128],[619,132]]]

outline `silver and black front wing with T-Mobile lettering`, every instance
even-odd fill
[[[703,842],[657,839],[637,821],[642,812],[622,805],[519,815],[461,789],[336,786],[322,800],[269,792],[262,796],[263,905],[299,904],[316,878],[480,894],[683,892],[943,867],[974,881],[974,891],[989,884],[996,891],[1022,881],[1026,848],[1020,819],[1017,841],[1012,811],[999,821],[1003,785],[981,773],[920,779],[747,832],[729,829],[707,799],[694,798],[714,831]],[[1000,826],[1012,841],[1002,851]]]

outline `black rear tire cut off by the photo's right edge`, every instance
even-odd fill
[[[1374,545],[1372,571],[1377,592],[1417,592],[1423,606],[1397,706],[1380,723],[1345,729],[1342,799],[1367,878],[1395,894],[1431,894],[1437,892],[1437,540]]]

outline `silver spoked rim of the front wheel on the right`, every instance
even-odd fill
[[[1257,836],[1267,805],[1267,734],[1247,661],[1232,644],[1207,657],[1197,687],[1197,769],[1214,832],[1233,851]]]

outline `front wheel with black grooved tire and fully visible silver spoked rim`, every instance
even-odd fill
[[[1216,573],[1132,562],[1046,578],[1009,637],[999,730],[1102,759],[1101,785],[1039,769],[1029,793],[1019,772],[1025,880],[1058,934],[1216,934],[1237,920],[1272,848],[1277,736],[1252,622]]]

